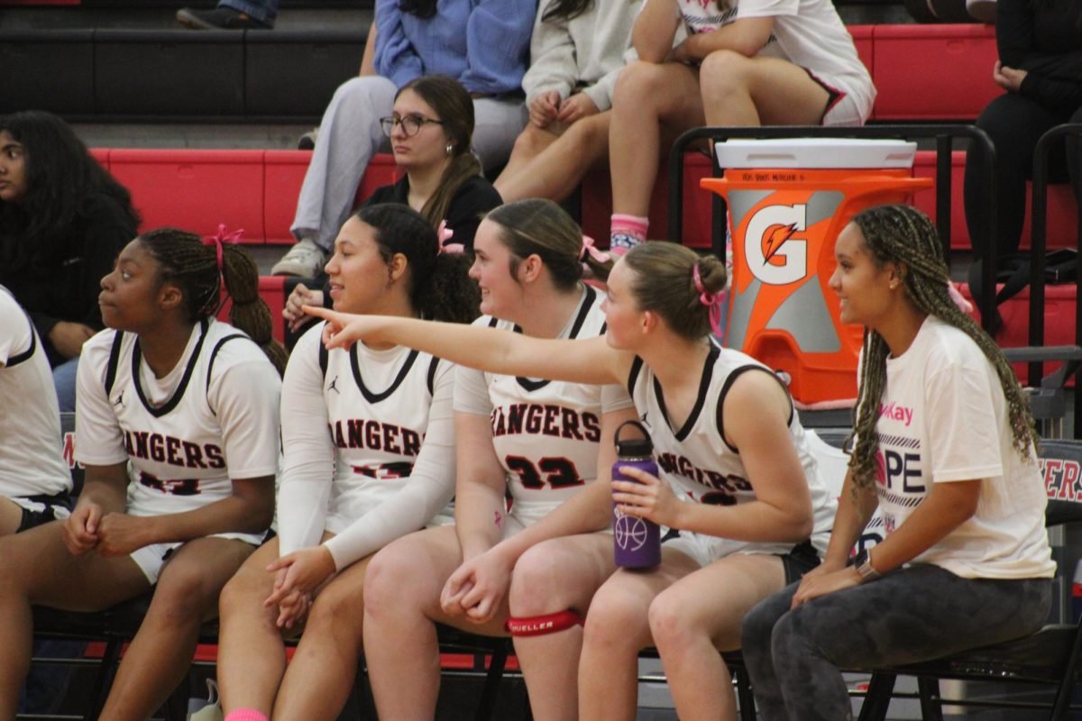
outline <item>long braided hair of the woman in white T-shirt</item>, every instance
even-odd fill
[[[995,342],[969,316],[964,313],[948,293],[947,264],[942,243],[935,226],[921,211],[909,205],[879,205],[861,211],[853,223],[865,237],[865,246],[875,266],[896,264],[901,273],[906,295],[922,313],[935,316],[959,329],[977,344],[991,362],[1006,398],[1014,448],[1026,457],[1037,446],[1037,431],[1018,378]],[[886,384],[886,357],[889,348],[878,332],[865,329],[861,351],[860,389],[853,410],[853,433],[856,437],[849,469],[856,488],[868,488],[875,478],[875,453],[879,438],[875,424],[879,404]]]

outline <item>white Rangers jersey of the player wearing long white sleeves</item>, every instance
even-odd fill
[[[319,344],[324,400],[334,444],[327,530],[341,533],[405,488],[428,427],[437,374],[447,361],[396,346],[355,343],[328,351]]]

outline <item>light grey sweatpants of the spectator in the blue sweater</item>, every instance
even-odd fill
[[[334,92],[319,124],[319,138],[304,175],[293,236],[311,238],[325,251],[349,217],[368,162],[386,145],[380,118],[392,114],[396,88],[380,76],[353,78]],[[522,99],[474,99],[473,147],[486,172],[511,156],[528,112]]]

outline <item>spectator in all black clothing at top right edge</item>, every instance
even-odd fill
[[[1076,0],[999,0],[995,39],[1000,58],[992,79],[1007,91],[988,104],[977,126],[995,146],[999,197],[995,249],[1000,256],[1018,250],[1026,221],[1026,181],[1032,175],[1037,142],[1051,128],[1082,122],[1082,3]],[[1063,146],[1060,146],[1063,147]],[[1053,150],[1050,174],[1070,173],[1077,192],[1082,148],[1067,143]],[[982,257],[991,244],[986,223],[984,152],[973,146],[965,163],[965,221],[973,249]],[[979,265],[971,268],[969,283],[979,286]],[[975,291],[976,292],[976,291]]]

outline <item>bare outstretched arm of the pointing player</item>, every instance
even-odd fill
[[[328,348],[348,348],[357,341],[391,343],[503,375],[623,385],[634,360],[631,353],[609,347],[604,337],[555,341],[476,325],[355,316],[312,306],[305,306],[304,312],[327,320],[324,343]]]

